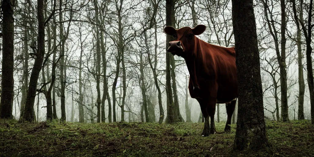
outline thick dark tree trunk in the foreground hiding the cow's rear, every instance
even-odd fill
[[[232,0],[238,76],[238,118],[234,149],[268,147],[264,120],[260,58],[253,0]],[[250,115],[250,116],[248,116]]]

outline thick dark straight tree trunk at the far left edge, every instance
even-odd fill
[[[14,97],[14,0],[2,1],[2,82],[0,118],[12,118],[13,97]]]

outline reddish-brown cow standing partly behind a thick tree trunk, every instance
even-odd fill
[[[235,47],[221,47],[198,39],[195,35],[202,34],[206,30],[205,25],[178,30],[167,26],[164,30],[176,39],[169,42],[167,51],[183,57],[187,63],[190,95],[198,100],[205,117],[202,136],[216,133],[216,103],[226,104],[228,118],[225,131],[230,131],[229,124],[238,97]]]

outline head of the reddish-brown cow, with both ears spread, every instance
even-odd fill
[[[164,31],[168,35],[172,35],[175,38],[174,41],[169,42],[167,49],[172,55],[178,55],[185,57],[187,53],[192,52],[195,47],[195,35],[200,35],[206,30],[205,25],[197,25],[195,28],[182,27],[178,30],[172,26],[166,26]]]

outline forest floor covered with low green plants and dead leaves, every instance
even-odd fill
[[[0,120],[0,156],[314,156],[308,120],[267,121],[270,148],[234,151],[236,125],[201,137],[202,123],[18,123]]]

